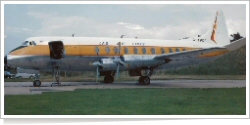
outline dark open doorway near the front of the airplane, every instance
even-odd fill
[[[63,59],[65,57],[65,49],[62,41],[49,42],[50,58]]]

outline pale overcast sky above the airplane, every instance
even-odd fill
[[[5,51],[27,37],[71,36],[180,39],[204,34],[216,10],[225,15],[229,34],[246,36],[245,4],[40,5],[4,6]]]

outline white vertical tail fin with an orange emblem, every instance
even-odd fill
[[[205,39],[206,41],[203,42],[213,42],[219,46],[230,44],[224,14],[221,10],[216,12],[212,27],[204,35],[198,36],[198,39]]]

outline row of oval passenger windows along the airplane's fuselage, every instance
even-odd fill
[[[110,53],[110,48],[109,47],[106,47],[105,50],[106,50],[107,54]],[[96,47],[95,51],[96,51],[96,53],[99,53],[100,49],[98,47]],[[134,47],[133,51],[134,51],[134,54],[138,54],[138,48]],[[151,48],[150,51],[151,51],[152,54],[156,54],[155,48]],[[186,49],[182,48],[182,51],[186,51]],[[117,47],[114,47],[114,52],[115,52],[115,54],[118,54],[119,53],[119,49]],[[180,49],[179,48],[175,48],[175,51],[173,51],[172,48],[169,48],[168,52],[169,53],[180,52]],[[124,53],[125,54],[129,54],[129,49],[127,47],[124,48]],[[142,48],[142,53],[146,54],[147,53],[147,49],[146,48]],[[164,48],[161,48],[161,53],[162,54],[166,53],[166,51],[165,51]]]

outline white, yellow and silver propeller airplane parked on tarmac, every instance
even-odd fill
[[[120,71],[140,76],[140,85],[149,85],[154,70],[185,67],[212,61],[245,45],[230,43],[221,10],[216,12],[204,35],[181,40],[103,38],[103,37],[30,37],[4,57],[12,67],[52,71],[53,85],[61,85],[60,71],[96,71],[96,81],[113,83]],[[35,79],[33,85],[41,86]]]

